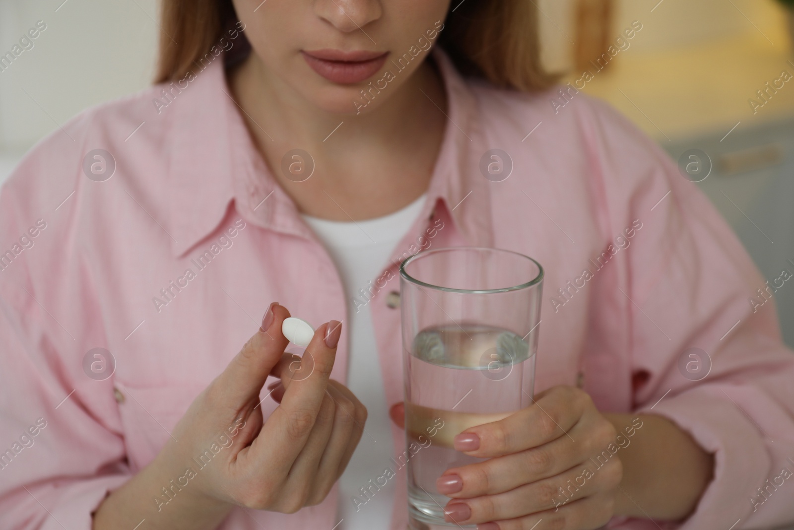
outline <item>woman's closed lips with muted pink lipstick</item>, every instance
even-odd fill
[[[301,54],[318,75],[332,83],[353,84],[369,79],[383,68],[388,52],[317,50]]]

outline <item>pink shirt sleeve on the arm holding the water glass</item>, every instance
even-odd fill
[[[659,146],[604,103],[593,102],[585,120],[612,238],[642,225],[625,249],[614,242],[621,273],[608,289],[626,323],[631,373],[647,376],[634,388],[632,410],[669,418],[715,456],[696,510],[663,525],[790,524],[794,355],[781,341],[773,290]],[[781,263],[781,278],[791,272]],[[649,523],[622,518],[615,528],[657,528]]]

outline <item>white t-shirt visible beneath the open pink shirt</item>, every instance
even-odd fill
[[[380,530],[388,528],[394,505],[394,481],[378,491],[366,505],[357,510],[353,497],[360,497],[360,488],[380,476],[389,458],[394,456],[391,425],[384,392],[383,375],[372,327],[369,307],[356,312],[353,299],[366,301],[360,288],[380,275],[391,252],[422,211],[426,194],[407,207],[376,219],[339,222],[302,215],[337,265],[348,300],[349,333],[347,387],[356,394],[368,411],[366,432],[353,453],[353,458],[339,479],[337,530]]]

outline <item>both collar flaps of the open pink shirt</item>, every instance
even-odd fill
[[[490,247],[490,181],[480,174],[485,142],[479,106],[445,52],[436,47],[433,53],[449,119],[420,219],[441,204],[468,244]],[[314,238],[256,151],[231,98],[222,60],[199,72],[174,103],[163,112],[174,110],[168,174],[175,257],[212,234],[229,215],[232,201],[237,213],[257,226]]]

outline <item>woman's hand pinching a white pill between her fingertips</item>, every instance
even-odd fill
[[[341,323],[318,327],[301,362],[284,354],[289,341],[282,324],[289,316],[271,304],[260,331],[195,398],[152,464],[101,505],[94,528],[111,528],[102,520],[114,520],[113,509],[130,520],[146,517],[148,528],[214,528],[234,505],[294,513],[322,502],[353,455],[367,411],[329,378]],[[280,404],[263,420],[260,392],[270,375],[281,378],[270,387]],[[152,496],[176,483],[172,501],[156,506]],[[137,501],[141,494],[149,515],[135,509],[146,506]],[[114,503],[114,497],[135,501]]]

